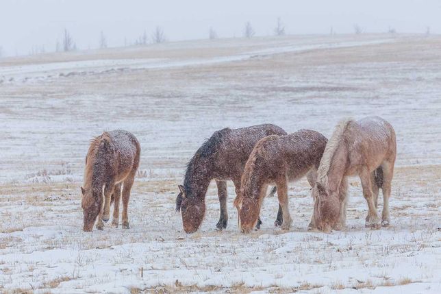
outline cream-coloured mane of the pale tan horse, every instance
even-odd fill
[[[335,154],[338,143],[342,141],[344,132],[346,132],[349,123],[351,123],[353,119],[343,119],[338,123],[336,129],[333,131],[331,138],[328,140],[325,151],[323,152],[322,159],[320,160],[320,166],[317,171],[317,182],[320,183],[323,187],[328,188],[328,171],[331,168],[331,162],[333,158],[333,154]]]

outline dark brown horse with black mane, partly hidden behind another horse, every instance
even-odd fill
[[[277,125],[254,125],[231,130],[225,128],[203,143],[187,164],[184,186],[179,185],[176,211],[181,211],[182,225],[187,233],[199,229],[205,215],[205,193],[211,180],[216,180],[220,204],[218,230],[227,228],[227,180],[233,180],[236,195],[240,177],[255,143],[269,135],[286,135]],[[272,193],[275,193],[273,189]]]

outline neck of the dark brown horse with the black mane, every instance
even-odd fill
[[[212,180],[211,164],[209,160],[192,160],[187,169],[184,186],[190,197],[204,199],[208,185]]]

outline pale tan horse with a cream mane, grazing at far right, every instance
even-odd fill
[[[369,208],[366,227],[380,227],[377,215],[379,188],[383,191],[381,225],[390,225],[389,197],[395,158],[395,132],[387,121],[367,117],[360,121],[348,119],[337,125],[320,162],[313,191],[317,228],[329,232],[336,225],[344,225],[346,177],[351,175],[359,175],[362,180],[363,195]]]

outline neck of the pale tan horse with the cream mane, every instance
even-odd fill
[[[336,192],[346,173],[348,162],[348,151],[344,141],[341,141],[333,153],[329,171],[327,172],[329,191]]]

